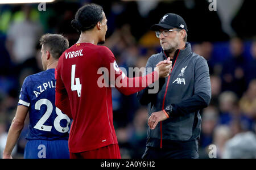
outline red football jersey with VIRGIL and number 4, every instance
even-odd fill
[[[101,86],[102,82],[107,85],[109,83],[102,80],[100,68],[105,68],[104,73],[109,72],[106,78],[109,82],[117,83],[120,80],[128,84],[129,80],[132,80],[142,84],[150,77],[152,82],[158,79],[155,71],[147,76],[127,78],[106,46],[84,42],[67,49],[61,55],[56,69],[55,104],[73,118],[69,134],[70,152],[84,152],[118,143],[113,126],[112,88]],[[113,71],[114,78],[110,78]],[[117,87],[125,95],[143,88]]]

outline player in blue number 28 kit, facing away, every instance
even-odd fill
[[[29,112],[28,140],[24,158],[69,158],[68,131],[70,118],[55,107],[55,68],[68,40],[61,35],[41,37],[42,65],[45,71],[27,76],[20,90],[15,117],[10,126],[3,158],[12,158]]]

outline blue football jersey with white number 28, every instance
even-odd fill
[[[55,69],[48,69],[24,79],[18,105],[29,107],[30,139],[68,139],[70,118],[55,107]]]

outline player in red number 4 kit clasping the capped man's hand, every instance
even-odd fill
[[[101,68],[114,73],[114,77],[107,79],[110,78],[113,85],[111,79],[114,78],[115,87],[125,95],[134,94],[159,77],[168,76],[172,68],[169,58],[151,74],[127,78],[118,68],[113,53],[106,46],[97,45],[105,41],[106,22],[101,6],[81,7],[71,23],[81,33],[79,41],[62,54],[57,65],[55,104],[73,118],[69,134],[71,158],[121,158],[113,126],[112,90],[98,84]],[[140,86],[129,87],[130,82]],[[146,86],[142,87],[143,83]]]

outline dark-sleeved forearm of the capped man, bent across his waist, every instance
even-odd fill
[[[195,94],[189,99],[185,99],[180,103],[172,105],[172,113],[170,116],[183,116],[185,114],[193,113],[207,107],[210,103],[210,97],[203,93]]]

